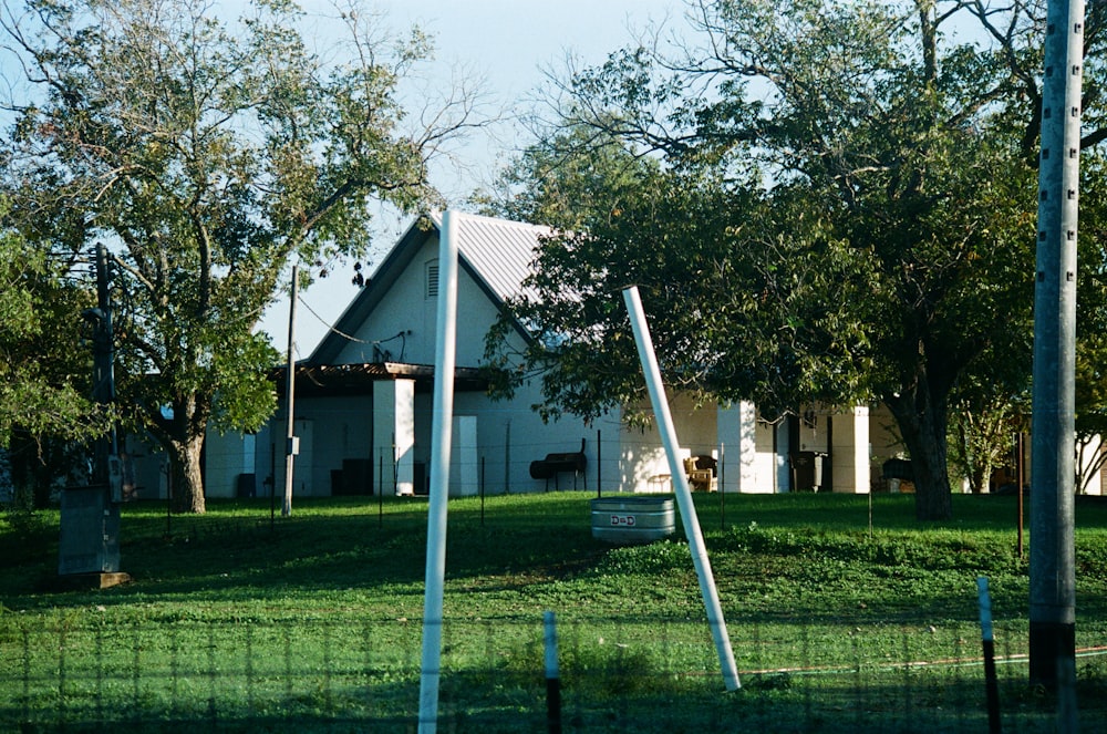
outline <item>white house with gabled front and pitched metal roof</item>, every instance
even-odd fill
[[[604,493],[670,489],[655,431],[628,428],[620,414],[590,425],[572,417],[545,424],[531,407],[541,402],[538,385],[520,389],[510,401],[486,394],[479,369],[485,334],[505,299],[520,288],[539,238],[549,230],[463,214],[456,221],[459,281],[451,494],[596,490],[597,486]],[[436,216],[413,224],[329,335],[298,365],[293,496],[426,490],[439,226]],[[519,327],[510,338],[521,349],[527,334]],[[868,493],[887,486],[881,464],[900,451],[890,416],[867,406],[808,407],[770,424],[748,402],[695,409],[681,395],[670,395],[670,401],[685,456],[707,457],[715,466],[713,486],[727,493],[813,486]],[[209,497],[268,495],[273,486],[280,494],[287,432],[281,403],[256,436],[208,435]],[[562,468],[581,471],[532,471],[532,463],[548,454],[569,454],[572,461]],[[159,478],[149,469],[147,475],[138,478],[139,484],[157,486]],[[144,495],[164,496],[164,486],[157,494],[147,489]]]

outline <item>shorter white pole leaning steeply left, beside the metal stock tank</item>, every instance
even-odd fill
[[[707,610],[707,624],[711,626],[711,635],[714,638],[715,649],[718,651],[723,682],[726,684],[727,691],[736,691],[741,688],[741,683],[738,682],[738,670],[734,664],[734,651],[731,650],[731,638],[726,633],[726,621],[723,619],[723,608],[718,603],[715,579],[711,573],[711,561],[707,560],[707,550],[703,545],[700,519],[695,514],[695,505],[692,504],[692,490],[689,488],[687,475],[684,473],[681,457],[677,455],[680,444],[676,442],[676,428],[673,427],[673,416],[669,411],[669,401],[665,399],[665,389],[661,382],[661,369],[658,366],[658,358],[653,351],[653,339],[650,337],[650,327],[645,322],[645,313],[642,311],[642,299],[638,294],[638,288],[632,287],[624,290],[623,300],[630,312],[630,325],[634,330],[634,341],[638,344],[638,356],[642,361],[645,386],[650,391],[653,414],[658,418],[661,441],[669,457],[669,473],[673,477],[673,490],[676,494],[676,504],[681,508],[684,535],[687,537],[689,547],[692,550],[692,564],[700,578],[700,593],[703,595],[703,606]]]

